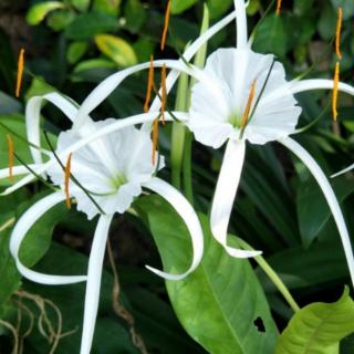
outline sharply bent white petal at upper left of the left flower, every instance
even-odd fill
[[[61,110],[69,119],[73,121],[77,108],[75,105],[65,98],[64,96],[60,95],[56,92],[52,92],[45,94],[43,96],[34,96],[29,100],[25,106],[25,128],[27,128],[27,136],[28,140],[37,146],[41,146],[40,140],[40,115],[43,101],[49,101],[54,104],[59,110]],[[34,147],[30,146],[31,155],[35,164],[41,164],[42,155],[41,152],[35,149]]]

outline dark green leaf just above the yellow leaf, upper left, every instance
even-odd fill
[[[100,12],[83,13],[70,23],[64,34],[74,41],[88,40],[92,37],[115,31],[119,28],[118,20],[112,15]]]

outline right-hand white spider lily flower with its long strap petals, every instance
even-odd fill
[[[301,108],[295,93],[333,90],[331,80],[287,82],[283,65],[271,54],[254,53],[247,40],[246,6],[235,0],[237,48],[219,49],[204,69],[214,87],[200,81],[192,87],[187,126],[201,144],[218,148],[227,143],[212,201],[210,225],[216,239],[235,257],[251,254],[227,246],[227,229],[244,162],[246,142],[263,145],[278,140],[292,150],[317,180],[332,210],[344,247],[352,282],[354,258],[350,236],[337,199],[315,160],[289,135],[295,133]],[[343,83],[339,90],[348,94],[353,87]],[[216,91],[218,94],[216,94]]]

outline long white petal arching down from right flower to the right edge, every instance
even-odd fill
[[[327,200],[330,209],[332,211],[333,218],[335,220],[336,227],[340,231],[340,236],[342,239],[344,253],[346,257],[347,267],[350,269],[352,283],[354,285],[354,258],[353,258],[353,250],[351,244],[351,238],[348,236],[346,225],[343,218],[343,214],[341,211],[340,204],[335,197],[335,194],[325,177],[324,173],[317,165],[317,163],[313,159],[313,157],[295,140],[291,138],[284,138],[279,140],[282,145],[287,146],[293,154],[295,154],[309,168],[313,177],[316,179],[317,184],[320,185],[322,192]]]

